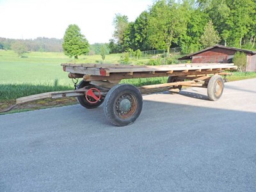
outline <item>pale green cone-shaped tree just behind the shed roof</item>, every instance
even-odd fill
[[[204,47],[211,47],[220,42],[220,36],[215,31],[212,21],[209,20],[208,24],[204,28],[204,34],[200,38],[200,42]]]

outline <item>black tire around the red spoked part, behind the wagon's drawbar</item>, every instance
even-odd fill
[[[84,86],[90,86],[90,82],[84,81],[84,80],[80,81],[80,83],[77,85],[77,89],[83,88]],[[91,86],[93,86],[93,85],[91,85]],[[77,101],[78,101],[79,104],[81,104],[81,106],[83,106],[84,108],[93,109],[93,108],[99,107],[99,106],[104,102],[104,99],[101,98],[101,99],[99,100],[99,102],[90,103],[90,102],[88,102],[88,101],[85,99],[85,96],[84,96],[84,95],[81,95],[81,96],[77,96]]]

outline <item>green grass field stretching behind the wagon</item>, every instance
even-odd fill
[[[104,63],[119,63],[121,54],[106,56]],[[101,56],[80,56],[76,63],[100,63]],[[0,51],[0,103],[37,93],[72,90],[72,79],[63,72],[61,63],[74,63],[63,53],[29,52],[19,58],[13,51]],[[143,62],[133,60],[132,64]],[[147,60],[144,60],[147,62]],[[231,81],[254,78],[256,73],[235,72]],[[125,79],[122,83],[140,86],[144,84],[166,83],[166,77],[147,79]]]

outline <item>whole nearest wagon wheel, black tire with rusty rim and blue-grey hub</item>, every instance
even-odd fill
[[[106,95],[104,113],[113,125],[130,125],[140,116],[142,103],[138,88],[131,84],[117,84]]]

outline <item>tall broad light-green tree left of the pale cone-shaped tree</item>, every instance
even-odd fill
[[[157,1],[148,17],[148,40],[156,49],[167,49],[186,32],[187,17],[183,7],[174,0]]]

